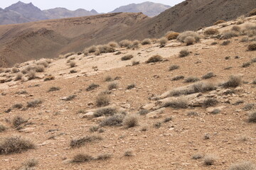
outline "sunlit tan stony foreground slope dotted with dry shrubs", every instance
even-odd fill
[[[256,16],[179,36],[0,69],[0,169],[255,170]]]

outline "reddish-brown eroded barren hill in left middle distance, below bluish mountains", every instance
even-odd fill
[[[127,28],[146,19],[142,13],[110,13],[0,26],[0,67],[118,40]]]

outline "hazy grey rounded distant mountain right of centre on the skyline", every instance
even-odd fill
[[[127,13],[139,13],[142,12],[146,16],[157,16],[159,13],[166,11],[166,9],[171,8],[171,6],[167,6],[164,4],[158,4],[153,2],[144,2],[142,4],[129,4],[127,6],[120,6],[116,8],[114,11],[110,13],[119,13],[119,12],[127,12]]]

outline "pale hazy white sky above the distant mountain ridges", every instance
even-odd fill
[[[48,9],[48,8],[55,8],[55,7],[63,7],[68,8],[70,10],[75,10],[78,8],[84,8],[86,10],[95,9],[97,12],[100,13],[107,13],[113,11],[115,8],[119,6],[124,6],[127,4],[139,4],[144,1],[151,1],[151,0],[22,0],[24,3],[32,2],[34,6],[38,8]],[[169,6],[174,6],[175,4],[180,3],[184,0],[152,0],[152,2],[166,4]],[[6,8],[11,4],[15,4],[18,0],[1,0],[0,7]]]

